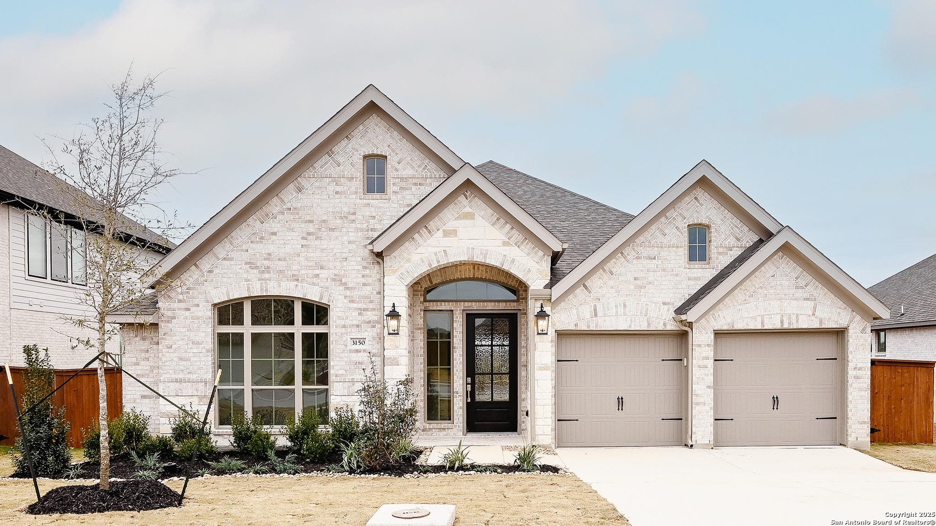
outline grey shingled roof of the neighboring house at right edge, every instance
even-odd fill
[[[868,290],[890,308],[890,319],[874,322],[874,329],[936,325],[936,255]]]

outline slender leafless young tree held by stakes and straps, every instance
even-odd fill
[[[164,94],[156,92],[155,80],[146,77],[135,82],[132,70],[127,71],[123,81],[110,87],[113,100],[105,104],[104,116],[81,124],[72,139],[60,139],[57,151],[46,144],[53,159],[47,168],[63,181],[62,198],[72,203],[74,211],[52,218],[53,240],[55,228],[76,224],[60,249],[69,251],[69,261],[86,261],[86,275],[81,278],[87,290],[80,301],[91,316],[67,319],[77,328],[93,331],[95,336],[82,330],[84,335],[74,338],[96,352],[106,351],[106,344],[119,331],[108,323],[110,315],[134,312],[151,298],[153,291],[144,284],[154,277],[152,269],[158,258],[154,253],[165,253],[171,246],[167,237],[188,227],[179,225],[174,214],[170,216],[154,200],[161,186],[181,174],[164,163],[166,155],[156,140],[163,121],[152,113]],[[77,230],[83,234],[76,234]],[[101,489],[110,486],[105,382],[109,362],[115,360],[108,354],[97,360]]]

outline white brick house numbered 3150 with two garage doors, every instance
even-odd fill
[[[422,444],[870,445],[887,309],[705,161],[635,216],[465,163],[368,86],[157,269],[124,363],[202,407],[220,368],[219,438],[353,404],[373,362]]]

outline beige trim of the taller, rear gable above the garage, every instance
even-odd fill
[[[720,171],[709,164],[709,161],[703,159],[680,180],[670,186],[660,197],[657,197],[647,208],[638,213],[636,217],[627,223],[619,232],[611,236],[604,244],[598,247],[591,255],[586,257],[578,267],[571,270],[552,287],[552,299],[557,300],[572,287],[578,285],[592,270],[599,267],[608,257],[613,256],[621,247],[631,241],[631,239],[643,228],[648,226],[653,218],[662,212],[665,212],[674,202],[687,190],[693,188],[696,183],[708,181],[713,184],[726,197],[739,205],[741,210],[750,216],[750,220],[760,226],[761,238],[776,234],[783,227],[780,222],[773,218],[766,210],[741,189],[728,181]]]

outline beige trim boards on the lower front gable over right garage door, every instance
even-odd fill
[[[753,256],[741,264],[738,270],[732,272],[724,282],[713,288],[705,298],[695,304],[692,309],[689,309],[686,314],[677,316],[677,319],[684,319],[692,323],[698,321],[785,245],[796,249],[800,255],[818,267],[819,270],[822,270],[829,279],[841,285],[842,289],[867,308],[870,313],[874,314],[875,319],[878,317],[886,318],[890,316],[890,309],[880,300],[874,298],[874,296],[868,292],[868,289],[861,286],[854,278],[846,274],[844,270],[841,270],[823,253],[816,250],[809,241],[804,240],[793,228],[784,226],[777,235],[770,238],[770,240],[764,243]]]

